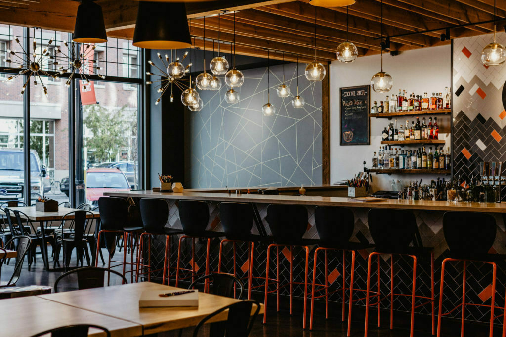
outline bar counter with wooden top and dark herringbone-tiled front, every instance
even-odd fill
[[[216,192],[218,191],[218,192]],[[235,191],[232,189],[232,191]],[[340,198],[340,197],[302,197],[302,196],[286,196],[286,195],[248,195],[248,194],[239,194],[228,193],[226,190],[223,192],[223,189],[220,190],[205,190],[199,191],[196,189],[192,189],[191,191],[186,191],[181,194],[175,193],[160,193],[151,190],[145,191],[124,191],[124,192],[107,192],[107,196],[111,197],[121,197],[127,198],[131,197],[134,200],[139,200],[142,198],[159,198],[165,199],[169,205],[170,216],[167,221],[166,226],[171,226],[173,228],[181,228],[181,223],[179,221],[179,213],[177,211],[177,202],[178,200],[201,200],[207,202],[209,206],[209,224],[208,230],[222,231],[221,223],[220,223],[220,213],[219,213],[219,203],[220,202],[244,202],[250,203],[255,210],[257,210],[257,219],[256,226],[254,225],[251,229],[252,233],[255,234],[263,234],[269,235],[270,230],[267,221],[265,221],[265,217],[267,215],[267,206],[269,204],[299,204],[305,205],[308,209],[309,215],[309,224],[308,230],[305,234],[305,238],[318,238],[318,233],[316,231],[315,226],[315,218],[314,218],[314,209],[316,206],[338,206],[338,207],[346,207],[350,208],[354,213],[355,218],[355,231],[351,237],[351,241],[354,242],[372,242],[368,225],[367,225],[367,212],[371,208],[389,208],[389,209],[407,209],[413,210],[416,218],[416,224],[418,227],[418,231],[420,234],[421,242],[424,247],[433,247],[434,248],[434,256],[435,256],[435,287],[439,288],[439,277],[441,272],[441,262],[443,259],[449,257],[448,247],[446,246],[444,235],[443,235],[443,225],[442,225],[442,217],[444,212],[446,211],[461,211],[461,212],[485,212],[490,213],[494,216],[497,224],[497,234],[494,245],[490,251],[490,253],[500,253],[506,254],[506,248],[504,244],[506,244],[506,233],[504,232],[504,222],[503,216],[506,213],[506,204],[505,203],[455,203],[455,202],[444,202],[444,201],[406,201],[406,200],[387,200],[383,202],[373,202],[373,203],[361,203],[361,202],[351,202],[348,201],[348,198]],[[156,242],[156,241],[155,241]],[[218,249],[219,249],[219,239],[215,239],[211,248],[211,262],[210,268],[213,271],[218,270]],[[156,244],[155,244],[156,245]],[[156,247],[156,246],[153,246]],[[160,261],[160,265],[163,261],[163,246],[160,242],[160,249],[156,251],[152,250],[152,260],[155,258]],[[171,247],[177,249],[177,238],[173,240],[171,243]],[[258,248],[257,248],[258,247]],[[312,251],[310,252],[310,266],[313,265],[313,252],[316,246],[312,247]],[[203,267],[205,265],[205,243],[196,243],[195,246],[195,263],[197,266]],[[224,253],[223,253],[223,261],[222,261],[222,272],[233,272],[233,260],[232,260],[232,245],[225,245]],[[239,277],[247,275],[248,271],[248,253],[247,247],[237,246],[236,247],[239,258],[236,262],[236,272]],[[153,253],[153,251],[156,251]],[[185,261],[189,261],[191,259],[189,254],[192,254],[191,245],[187,244],[182,249],[183,254],[188,254],[185,257]],[[153,256],[156,255],[157,256]],[[280,274],[283,279],[288,279],[289,277],[289,259],[293,258],[293,260],[304,259],[304,254],[299,252],[298,250],[292,251],[293,256],[290,254],[290,251],[285,248],[283,250],[280,249]],[[340,288],[343,284],[342,272],[343,272],[343,264],[342,264],[342,255],[337,253],[338,256],[333,258],[332,254],[329,255],[328,259],[328,282],[336,288]],[[358,251],[356,258],[356,267],[355,267],[355,288],[365,289],[366,287],[366,275],[367,275],[367,256],[369,254],[369,250],[360,250]],[[173,255],[174,256],[174,255]],[[254,265],[254,273],[257,276],[265,276],[265,265],[266,265],[266,249],[262,245],[256,246],[255,249],[255,258],[253,261]],[[382,274],[390,273],[390,263],[387,261],[390,259],[390,256],[383,256],[385,262],[382,262]],[[318,260],[318,277],[324,275],[324,263]],[[171,266],[175,267],[176,258],[171,259]],[[349,268],[351,264],[351,259],[348,256],[346,265]],[[294,263],[296,265],[296,263]],[[412,273],[412,261],[404,258],[395,259],[394,269],[396,270],[396,288],[398,293],[406,293],[410,291],[411,287],[411,273]],[[431,282],[430,282],[430,262],[429,263],[419,263],[418,267],[419,271],[417,272],[417,288],[419,291],[419,295],[430,296],[431,293]],[[373,268],[374,269],[374,268]],[[469,271],[471,270],[471,271]],[[500,262],[497,268],[497,282],[496,282],[496,294],[495,294],[495,303],[503,303],[503,295],[504,295],[504,284],[506,283],[506,263]],[[445,278],[445,299],[443,300],[443,308],[451,309],[454,306],[454,301],[452,302],[450,298],[459,298],[462,292],[462,268],[461,265],[458,264],[447,264],[445,267],[445,273],[448,277]],[[469,287],[468,298],[472,298],[476,301],[476,303],[486,303],[489,302],[490,299],[490,284],[492,282],[492,271],[491,268],[484,268],[480,264],[472,264],[468,269],[468,278],[469,275],[472,275],[472,279],[468,279],[468,282],[474,282],[472,287]],[[304,279],[304,270],[302,269],[294,269],[293,277],[295,280],[303,280]],[[311,279],[312,276],[310,276]],[[346,272],[346,282],[349,284],[350,282],[350,272],[347,270]],[[376,279],[376,272],[371,273],[371,279]],[[385,279],[385,281],[383,281]],[[253,286],[260,285],[262,280],[257,279],[254,281]],[[382,288],[385,288],[385,294],[388,293],[390,288],[390,283],[388,278],[382,278]],[[262,288],[261,288],[262,289]],[[396,291],[396,292],[397,292]],[[453,293],[453,295],[451,294]],[[288,289],[282,288],[281,295],[288,295]],[[293,296],[302,297],[304,294],[303,286],[294,286],[293,288]],[[447,297],[449,294],[449,297]],[[347,299],[348,300],[348,299]],[[342,297],[340,292],[333,292],[329,296],[329,301],[334,302],[342,302]],[[448,301],[448,302],[447,302]],[[274,303],[275,301],[271,302]],[[358,305],[365,306],[365,300],[359,300],[356,302]],[[387,308],[389,305],[389,300],[382,302],[382,307],[385,306]],[[394,309],[409,311],[410,310],[410,299],[408,297],[399,297],[394,300]],[[420,306],[416,309],[417,313],[430,314],[430,307],[428,306]],[[470,320],[478,320],[486,322],[488,320],[489,311],[485,307],[480,306],[469,306],[466,307],[466,318]],[[335,313],[336,316],[333,316],[330,313],[329,317],[338,317],[339,313]],[[455,310],[449,316],[460,318],[460,311]],[[496,318],[496,323],[501,324],[502,318]]]

